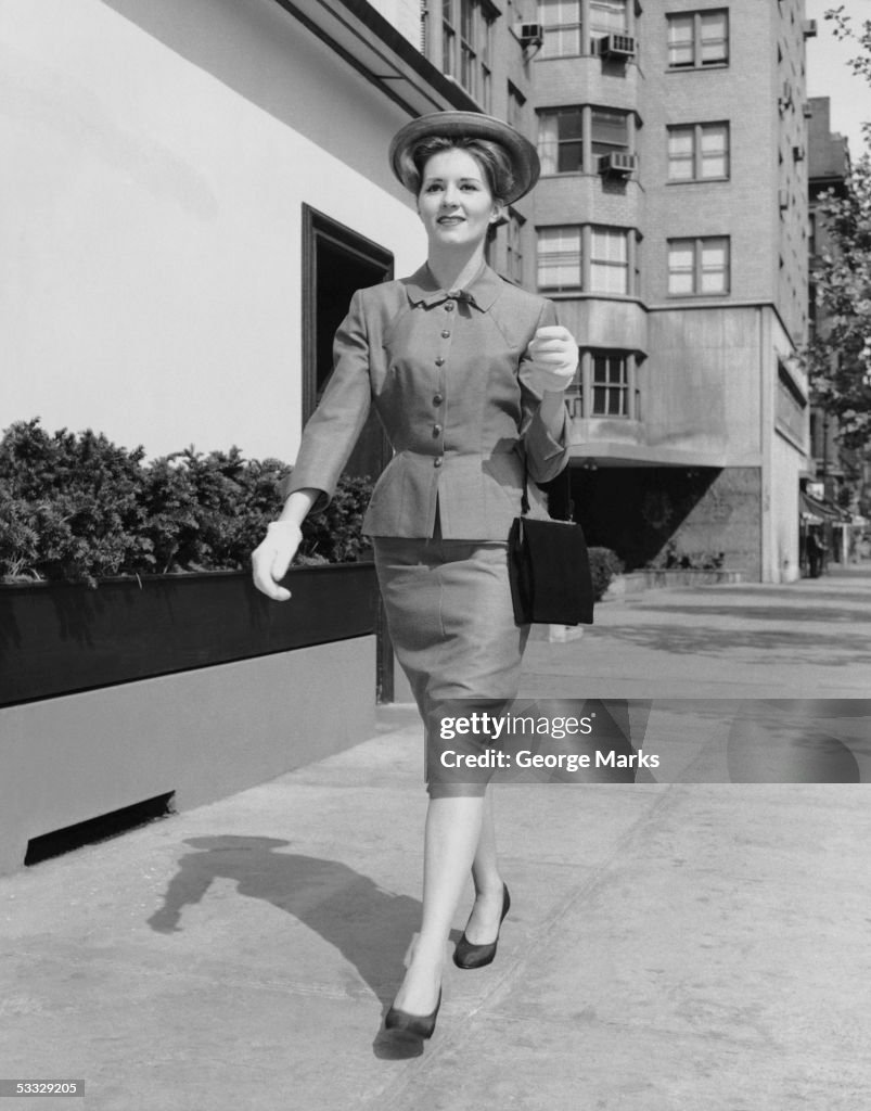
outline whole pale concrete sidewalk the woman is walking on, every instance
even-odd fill
[[[870,584],[609,603],[581,640],[531,645],[524,693],[864,697]],[[94,1111],[871,1104],[861,783],[499,788],[498,958],[449,965],[432,1042],[397,1055],[379,1028],[426,797],[416,714],[379,718],[338,757],[0,879],[2,1075],[83,1079]]]

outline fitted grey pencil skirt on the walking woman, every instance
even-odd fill
[[[431,797],[483,794],[492,772],[470,768],[487,739],[442,740],[444,714],[500,714],[517,697],[529,625],[514,622],[508,543],[374,537],[388,631],[423,719]],[[462,700],[461,703],[454,700]],[[454,763],[459,767],[449,767]]]

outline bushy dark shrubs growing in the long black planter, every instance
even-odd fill
[[[282,504],[290,472],[238,448],[143,462],[91,431],[53,436],[22,421],[0,440],[0,579],[86,582],[110,575],[242,570]],[[300,562],[367,558],[368,479],[342,479],[303,529]]]

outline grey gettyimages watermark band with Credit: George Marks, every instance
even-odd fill
[[[455,699],[428,779],[509,783],[871,781],[867,699]]]

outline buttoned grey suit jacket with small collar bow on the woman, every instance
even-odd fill
[[[363,520],[370,537],[507,540],[525,474],[547,482],[569,458],[568,409],[554,438],[521,381],[553,304],[482,267],[461,292],[429,268],[354,293],[336,333],[333,372],[283,492],[320,491],[326,508],[374,404],[393,449]],[[564,407],[563,407],[564,408]],[[532,516],[547,517],[530,483]]]

